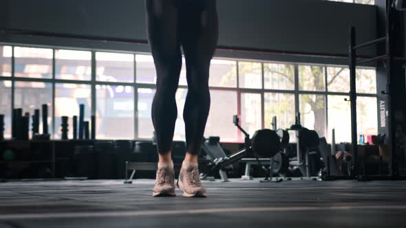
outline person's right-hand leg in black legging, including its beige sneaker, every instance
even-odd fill
[[[184,104],[186,156],[182,163],[178,186],[186,197],[205,196],[197,168],[197,156],[202,146],[204,128],[210,109],[209,68],[217,45],[218,22],[215,0],[202,0],[200,12],[180,13],[181,40],[186,58],[188,94]],[[201,8],[202,5],[195,5]]]

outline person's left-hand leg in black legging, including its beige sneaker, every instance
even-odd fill
[[[148,42],[157,75],[151,115],[159,162],[153,196],[175,196],[171,147],[178,117],[175,93],[182,67],[178,9],[173,5],[173,1],[169,0],[146,0],[145,6]]]

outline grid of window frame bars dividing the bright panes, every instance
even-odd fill
[[[104,82],[104,81],[98,81],[96,80],[96,52],[113,52],[110,50],[103,50],[103,49],[85,49],[85,48],[73,48],[73,47],[47,47],[47,46],[41,46],[41,45],[14,45],[10,43],[0,43],[0,45],[3,46],[11,46],[12,47],[12,56],[11,56],[11,77],[5,77],[5,76],[0,76],[0,80],[8,80],[12,82],[12,87],[11,87],[11,110],[14,109],[14,88],[15,88],[15,82],[16,81],[21,81],[21,82],[50,82],[52,83],[52,110],[50,113],[52,113],[52,126],[50,126],[50,134],[52,137],[55,135],[55,132],[58,131],[58,126],[55,126],[55,87],[56,83],[69,83],[69,84],[89,84],[91,89],[92,89],[92,95],[91,95],[91,103],[92,103],[92,110],[90,111],[91,115],[96,115],[96,85],[115,85],[115,86],[130,86],[133,87],[133,101],[134,101],[134,111],[133,111],[133,138],[135,140],[139,139],[145,139],[145,138],[139,138],[138,137],[138,89],[156,89],[156,84],[151,84],[151,83],[141,83],[137,82],[137,61],[136,61],[136,56],[138,54],[142,55],[150,55],[149,53],[145,52],[114,52],[118,54],[133,54],[133,82]],[[15,59],[14,59],[14,47],[38,47],[38,48],[49,48],[52,49],[52,78],[23,78],[23,77],[16,77],[14,76],[15,74]],[[56,58],[55,58],[55,52],[56,50],[63,49],[63,50],[73,50],[73,51],[87,51],[92,53],[92,60],[91,60],[91,68],[92,68],[92,77],[91,80],[65,80],[65,79],[58,79],[56,78]],[[265,109],[264,109],[264,94],[265,93],[289,93],[289,94],[294,94],[295,95],[295,113],[299,111],[299,95],[302,94],[311,94],[311,95],[323,95],[325,98],[325,135],[329,135],[328,131],[328,95],[345,95],[349,96],[350,93],[345,93],[345,92],[333,92],[333,91],[328,91],[328,67],[347,67],[345,65],[324,65],[324,64],[306,64],[306,63],[297,63],[297,62],[279,62],[279,61],[267,61],[267,60],[247,60],[247,59],[237,59],[237,58],[215,58],[215,59],[220,59],[220,60],[231,60],[235,61],[236,65],[236,79],[237,79],[237,87],[210,87],[212,90],[222,90],[222,91],[235,91],[237,93],[237,115],[241,115],[242,112],[242,107],[241,107],[241,96],[242,93],[259,93],[261,95],[261,127],[264,128],[266,124],[264,123],[265,119]],[[239,62],[259,62],[261,64],[261,82],[262,82],[262,88],[261,89],[247,89],[247,88],[240,88],[239,85]],[[292,65],[294,67],[294,80],[295,80],[295,88],[293,90],[286,90],[286,89],[265,89],[265,82],[264,82],[264,65],[267,63],[275,63],[275,64],[284,64],[284,65]],[[318,65],[323,67],[323,74],[324,74],[324,91],[301,91],[299,90],[299,66],[302,65]],[[374,67],[359,67],[357,69],[375,69]],[[375,69],[376,70],[376,69]],[[187,89],[186,85],[180,85],[180,89]],[[357,96],[359,97],[371,97],[371,98],[376,98],[378,100],[378,94],[377,93],[356,93]],[[376,115],[378,115],[378,111],[376,112]],[[231,117],[230,117],[231,119]],[[293,123],[292,123],[293,124]],[[376,126],[378,127],[378,122],[376,123]],[[243,126],[244,127],[244,126]],[[237,128],[235,128],[237,130]],[[97,139],[97,135],[96,135]],[[233,142],[240,142],[240,138],[238,137],[235,139]]]

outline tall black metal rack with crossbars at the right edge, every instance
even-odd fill
[[[348,62],[350,68],[350,106],[351,106],[351,143],[352,143],[352,155],[354,163],[352,165],[352,176],[357,177],[359,180],[405,180],[406,176],[400,172],[400,156],[403,154],[403,139],[397,137],[399,135],[398,129],[403,126],[403,118],[399,118],[398,113],[404,113],[404,101],[399,98],[399,94],[405,93],[405,87],[400,86],[404,84],[404,78],[399,77],[404,73],[405,65],[405,52],[400,43],[403,43],[404,31],[401,26],[398,26],[399,21],[403,21],[403,13],[397,10],[403,10],[405,5],[404,1],[388,0],[385,9],[385,36],[376,38],[372,41],[367,41],[356,45],[356,29],[350,27],[348,33]],[[383,30],[383,28],[382,28]],[[381,44],[382,43],[382,44]],[[383,44],[384,43],[384,44]],[[381,45],[385,49],[381,50],[381,56],[374,56],[366,60],[359,61],[358,49],[363,47],[372,46],[376,47]],[[356,113],[356,67],[357,65],[363,65],[367,62],[380,61],[385,69],[385,78],[387,78],[386,88],[387,91],[381,91],[385,95],[385,104],[387,104],[387,116],[389,117],[389,124],[387,124],[387,130],[389,130],[389,141],[391,145],[391,152],[389,153],[389,175],[369,175],[365,176],[361,172],[358,151],[357,140],[357,113]],[[383,70],[382,70],[383,73]],[[399,129],[404,133],[404,129]]]

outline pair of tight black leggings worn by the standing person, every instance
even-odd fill
[[[186,150],[197,154],[210,109],[209,68],[218,36],[216,0],[146,0],[146,8],[148,42],[157,73],[152,122],[158,152],[167,153],[172,146],[182,45],[188,82],[183,112]]]

